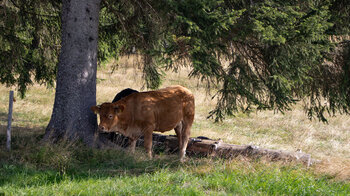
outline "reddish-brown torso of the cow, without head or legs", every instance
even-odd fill
[[[156,91],[140,92],[124,98],[125,115],[131,126],[153,124],[155,131],[169,131],[179,122],[192,124],[194,96],[185,87],[170,86]]]

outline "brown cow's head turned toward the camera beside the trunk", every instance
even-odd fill
[[[103,103],[102,105],[92,106],[90,109],[95,114],[100,115],[99,130],[103,132],[113,132],[124,108],[125,106],[122,104]]]

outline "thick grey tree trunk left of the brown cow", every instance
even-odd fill
[[[55,103],[44,139],[82,139],[92,144],[97,127],[97,39],[100,0],[62,2],[62,43]]]

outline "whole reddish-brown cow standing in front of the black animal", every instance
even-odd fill
[[[183,161],[195,110],[194,96],[187,88],[177,85],[134,93],[115,103],[92,106],[91,110],[100,115],[100,131],[119,132],[131,140],[131,152],[135,151],[136,140],[143,135],[150,158],[153,131],[175,129]]]

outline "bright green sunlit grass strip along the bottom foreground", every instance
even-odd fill
[[[9,167],[9,166],[8,166]],[[23,171],[23,168],[14,168]],[[138,176],[99,176],[91,174],[55,175],[50,171],[26,170],[17,176],[22,182],[6,183],[1,191],[40,195],[347,195],[350,187],[315,179],[295,168],[260,170],[243,173],[226,170],[222,165],[210,173],[159,168]],[[9,169],[5,169],[9,172]]]

